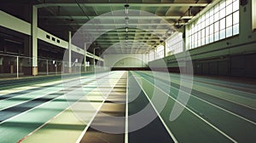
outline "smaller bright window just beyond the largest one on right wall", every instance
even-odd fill
[[[166,40],[167,55],[183,52],[183,33],[178,32],[174,37]]]

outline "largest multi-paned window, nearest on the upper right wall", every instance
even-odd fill
[[[239,0],[222,0],[189,25],[189,49],[239,34]]]

